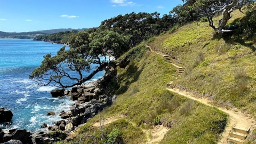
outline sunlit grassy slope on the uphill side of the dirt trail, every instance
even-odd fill
[[[230,23],[243,21],[245,14],[235,11]],[[215,19],[217,22],[219,18]],[[220,36],[208,22],[194,22],[173,34],[155,38],[155,50],[175,57],[186,67],[174,84],[209,97],[219,105],[255,113],[255,37]]]

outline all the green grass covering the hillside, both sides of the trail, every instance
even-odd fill
[[[245,14],[235,11],[232,15],[229,24],[244,20]],[[145,143],[152,135],[143,130],[163,124],[170,130],[160,143],[217,143],[227,124],[227,115],[165,90],[171,81],[209,97],[216,105],[235,106],[255,118],[255,39],[254,36],[244,41],[237,36],[217,35],[203,20],[151,38],[149,43],[155,51],[171,55],[174,63],[186,68],[180,76],[161,55],[148,52],[146,42],[131,49],[121,57],[129,65],[116,69],[117,99],[100,114],[105,118],[123,118],[105,126],[103,141],[111,137],[124,143]],[[99,120],[95,116],[90,123]],[[87,125],[79,134],[83,137],[77,139],[90,143],[95,139],[84,137],[92,135],[99,143],[101,133]]]

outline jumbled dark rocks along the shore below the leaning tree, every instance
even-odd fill
[[[110,95],[106,91],[106,86],[113,76],[114,68],[105,71],[105,74],[98,81],[89,82],[87,84],[73,87],[67,91],[52,91],[53,97],[61,97],[67,95],[70,100],[75,101],[70,106],[70,111],[60,111],[59,116],[63,119],[55,122],[55,126],[47,126],[42,124],[44,131],[30,133],[25,129],[0,129],[0,143],[15,140],[20,143],[53,143],[59,140],[65,140],[68,135],[87,123],[93,116],[100,113],[103,109],[109,107],[116,99],[116,95]],[[47,115],[54,115],[54,113]],[[67,141],[70,141],[68,139]]]

